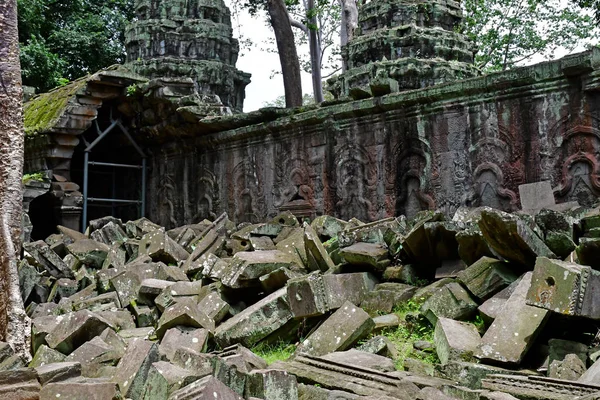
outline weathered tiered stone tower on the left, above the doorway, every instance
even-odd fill
[[[239,44],[223,0],[137,0],[126,31],[127,62],[149,78],[191,77],[242,112],[250,74],[236,69]]]

